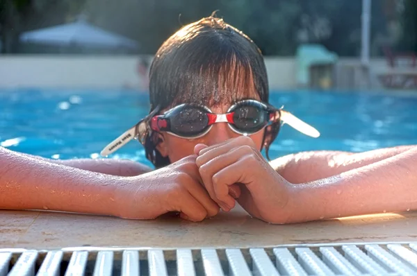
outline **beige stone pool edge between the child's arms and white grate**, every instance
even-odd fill
[[[416,242],[417,212],[270,225],[240,208],[202,223],[129,221],[59,212],[0,211],[0,251],[93,247],[248,248],[318,243]]]

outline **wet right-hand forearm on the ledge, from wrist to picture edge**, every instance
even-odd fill
[[[293,188],[291,222],[415,210],[417,148]]]

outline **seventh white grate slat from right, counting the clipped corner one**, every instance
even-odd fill
[[[306,271],[291,254],[287,248],[274,248],[277,257],[277,268],[282,275],[307,276]]]

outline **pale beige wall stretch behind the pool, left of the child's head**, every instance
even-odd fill
[[[0,57],[0,87],[140,87],[136,58]]]

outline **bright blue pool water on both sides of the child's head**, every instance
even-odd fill
[[[417,144],[417,93],[275,92],[270,102],[284,105],[321,132],[313,139],[284,125],[271,157],[302,150],[359,152]],[[97,158],[148,109],[147,94],[133,91],[0,90],[0,145],[56,159]],[[137,141],[110,157],[149,164]]]

